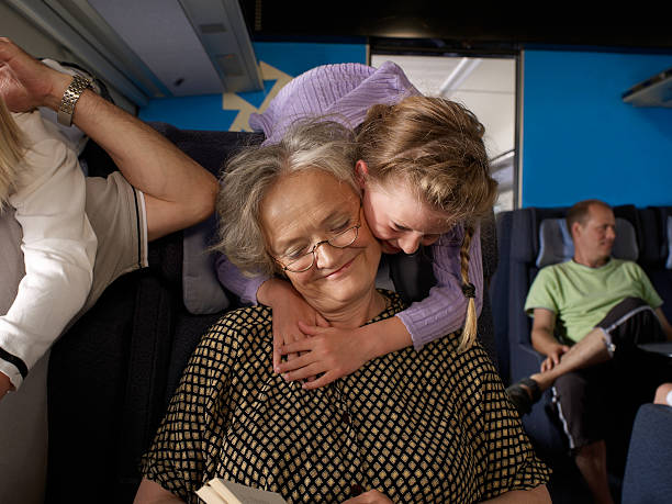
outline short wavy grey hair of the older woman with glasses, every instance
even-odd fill
[[[213,248],[225,254],[245,275],[277,272],[261,228],[261,201],[280,177],[307,170],[325,171],[359,194],[355,153],[352,132],[324,119],[295,122],[278,144],[238,153],[220,180],[219,243]]]

